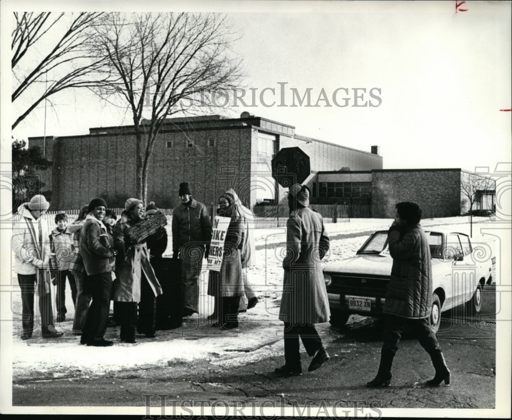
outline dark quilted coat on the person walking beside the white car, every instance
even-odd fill
[[[432,310],[432,260],[429,241],[419,224],[392,226],[388,233],[393,258],[383,312],[421,319]]]

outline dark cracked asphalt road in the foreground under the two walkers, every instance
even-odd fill
[[[483,292],[482,310],[470,319],[460,310],[443,313],[437,334],[452,372],[450,386],[423,386],[434,375],[429,356],[410,334],[404,334],[395,357],[393,380],[388,388],[367,388],[380,357],[381,324],[352,316],[343,329],[319,325],[331,359],[314,372],[307,372],[309,359],[303,352],[302,376],[277,377],[282,355],[242,366],[212,365],[208,360],[193,364],[150,366],[124,370],[109,376],[23,379],[13,383],[13,406],[161,406],[166,415],[173,406],[187,413],[191,405],[221,409],[226,405],[260,408],[294,407],[307,414],[312,407],[380,408],[494,408],[496,395],[496,313],[494,286]],[[302,349],[302,347],[301,347]],[[243,356],[243,355],[242,355]],[[232,355],[240,357],[239,354]],[[160,396],[159,396],[160,395]],[[83,411],[83,413],[87,413]],[[177,413],[177,411],[176,411]],[[297,414],[297,412],[294,412]],[[311,414],[316,414],[311,411]]]

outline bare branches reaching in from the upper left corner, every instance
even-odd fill
[[[22,108],[12,129],[50,96],[64,89],[91,88],[108,76],[101,73],[99,78],[105,60],[90,50],[95,43],[93,28],[103,15],[14,12],[11,100]]]

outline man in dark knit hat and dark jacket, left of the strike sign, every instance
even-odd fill
[[[205,246],[211,239],[211,221],[203,203],[192,198],[188,183],[182,182],[181,204],[173,212],[173,258],[181,260],[183,316],[199,312],[199,270]]]

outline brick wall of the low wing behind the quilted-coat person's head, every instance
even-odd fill
[[[376,218],[394,218],[395,204],[413,201],[423,218],[460,215],[460,169],[385,170],[372,172]]]

